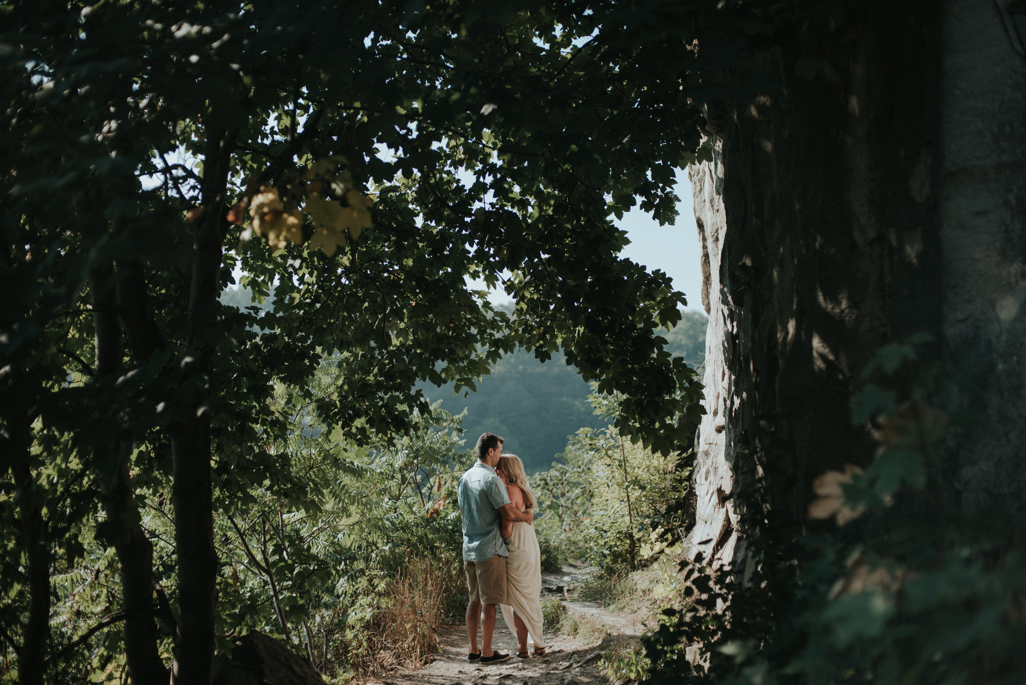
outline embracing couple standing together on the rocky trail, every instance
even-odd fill
[[[498,663],[510,657],[491,649],[496,606],[502,606],[516,655],[527,658],[527,636],[535,654],[545,653],[542,637],[542,555],[531,523],[535,497],[523,464],[503,454],[503,439],[485,433],[477,439],[477,462],[460,479],[463,560],[467,571],[467,637],[470,660]],[[477,631],[481,629],[481,649]]]

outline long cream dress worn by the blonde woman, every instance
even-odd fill
[[[503,618],[515,639],[513,612],[516,611],[527,627],[528,639],[535,643],[535,649],[542,649],[545,647],[542,636],[542,551],[538,547],[535,526],[523,521],[514,522],[513,531],[506,538],[506,547],[510,551],[506,560],[506,597],[510,603],[502,605]]]

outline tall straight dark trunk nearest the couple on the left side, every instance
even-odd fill
[[[222,243],[225,239],[225,198],[228,163],[235,132],[211,126],[203,166],[205,213],[193,255],[189,293],[189,355],[185,384],[196,390],[177,408],[170,428],[173,471],[174,539],[179,561],[179,622],[171,682],[209,684],[213,669],[213,627],[216,617],[218,556],[213,545],[210,481],[211,333],[216,325],[221,294]]]

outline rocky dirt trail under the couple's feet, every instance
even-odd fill
[[[591,641],[548,632],[548,653],[521,659],[512,656],[502,663],[482,666],[467,660],[464,626],[450,624],[439,634],[440,651],[434,661],[412,672],[399,671],[368,681],[380,685],[571,685],[607,683],[599,666],[602,653],[629,644],[644,629],[640,616],[622,615],[591,602],[575,601],[569,590],[593,569],[565,567],[562,573],[544,574],[544,597],[562,597],[567,612],[602,627],[605,633]],[[497,651],[516,651],[516,639],[500,617],[496,621],[494,645]]]

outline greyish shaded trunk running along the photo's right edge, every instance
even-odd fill
[[[966,509],[1026,522],[1026,17],[1013,4],[944,4],[944,339],[953,408],[973,413],[945,451]]]

